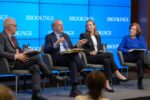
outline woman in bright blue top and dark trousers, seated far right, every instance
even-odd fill
[[[118,50],[123,52],[125,61],[137,63],[137,86],[138,89],[143,89],[144,51],[134,52],[133,49],[147,50],[147,46],[138,23],[132,23],[129,29],[130,34],[123,37]]]

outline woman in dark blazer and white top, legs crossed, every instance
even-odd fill
[[[104,73],[107,78],[105,87],[106,91],[114,92],[109,85],[109,80],[112,79],[112,72],[121,81],[127,81],[127,78],[118,71],[113,54],[110,52],[99,52],[102,50],[101,38],[96,31],[96,25],[93,20],[88,20],[86,22],[86,32],[80,34],[80,39],[87,39],[87,42],[83,44],[82,47],[85,49],[84,52],[88,63],[104,65]]]

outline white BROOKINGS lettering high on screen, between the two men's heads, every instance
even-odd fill
[[[36,16],[36,15],[26,15],[26,20],[54,20],[54,16]]]

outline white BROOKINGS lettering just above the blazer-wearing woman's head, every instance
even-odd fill
[[[94,20],[94,17],[86,17],[86,16],[69,16],[69,21],[87,21]]]

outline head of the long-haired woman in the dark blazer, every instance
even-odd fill
[[[89,35],[98,35],[96,25],[93,20],[87,20],[86,22],[86,33]]]

